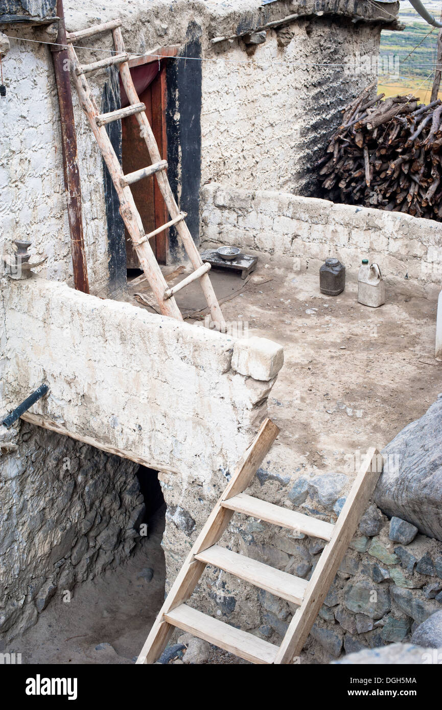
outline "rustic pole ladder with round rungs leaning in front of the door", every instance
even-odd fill
[[[145,113],[146,106],[140,102],[134,87],[134,82],[131,79],[131,72],[128,64],[129,54],[126,53],[124,48],[123,35],[120,26],[121,21],[116,20],[102,25],[97,25],[95,27],[90,27],[87,30],[70,32],[67,34],[70,69],[72,71],[72,78],[77,89],[78,96],[80,97],[82,108],[85,111],[87,120],[89,121],[97,140],[104,162],[109,169],[112,182],[114,183],[115,190],[117,191],[117,195],[119,197],[120,214],[122,215],[124,224],[126,224],[127,231],[129,231],[131,240],[134,243],[141,268],[143,268],[143,271],[146,274],[146,278],[149,281],[153,294],[158,301],[161,313],[177,318],[178,320],[183,320],[174,295],[181,288],[184,288],[189,283],[192,283],[192,281],[199,279],[205,300],[210,309],[212,321],[218,330],[223,331],[225,330],[224,318],[222,317],[220,305],[217,301],[215,291],[213,290],[212,283],[210,282],[210,278],[207,274],[210,270],[210,264],[203,264],[200,253],[198,252],[188,226],[184,221],[187,214],[185,214],[185,212],[180,212],[178,205],[176,204],[175,197],[173,197],[173,192],[166,175],[167,162],[166,160],[161,160],[156,140],[153,136],[151,126]],[[117,54],[112,55],[109,58],[99,60],[98,62],[93,62],[92,64],[80,64],[72,43],[77,40],[85,40],[86,38],[105,32],[112,32],[115,51]],[[131,105],[124,109],[111,111],[109,114],[99,114],[97,104],[92,96],[90,86],[87,83],[86,75],[90,74],[90,72],[95,72],[96,70],[104,69],[112,65],[119,65],[119,73],[122,78],[122,84]],[[149,165],[148,168],[136,170],[134,173],[129,173],[129,175],[124,175],[122,166],[119,164],[117,155],[104,127],[106,124],[110,123],[110,121],[118,121],[119,119],[123,119],[125,116],[136,116],[141,129],[140,134],[146,141],[146,146],[149,150],[149,155],[152,161],[152,165]],[[143,180],[144,178],[149,177],[149,175],[156,175],[158,186],[161,190],[161,194],[163,195],[168,212],[171,215],[171,220],[170,222],[163,224],[163,226],[158,227],[158,229],[154,229],[150,234],[144,234],[143,224],[141,222],[139,211],[136,209],[130,185],[138,180]],[[163,273],[161,272],[161,268],[158,266],[156,257],[149,244],[149,239],[152,236],[159,234],[161,231],[168,229],[170,226],[176,227],[176,231],[178,231],[180,239],[183,241],[185,251],[188,253],[190,263],[194,268],[193,273],[183,279],[183,281],[178,283],[176,286],[173,286],[173,288],[168,288],[166,280],[163,277]]]

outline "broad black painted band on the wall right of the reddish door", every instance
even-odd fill
[[[200,244],[200,184],[201,184],[201,90],[202,67],[200,27],[192,23],[188,28],[188,42],[181,55],[195,60],[177,58],[167,67],[168,103],[166,129],[168,145],[168,178],[175,197],[181,184],[180,209],[188,213],[186,223],[195,244]],[[179,114],[178,122],[174,116]],[[180,149],[180,150],[179,150]],[[181,170],[178,158],[181,153]],[[171,229],[169,249],[171,258],[177,254],[176,230]]]

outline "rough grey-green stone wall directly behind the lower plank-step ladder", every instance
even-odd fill
[[[264,462],[247,493],[335,523],[350,490],[350,477],[296,476],[294,471],[281,475]],[[198,481],[190,480],[183,497],[173,486],[173,476],[161,474],[160,480],[169,506],[163,547],[170,584],[222,484],[205,491]],[[197,492],[204,506],[199,525],[189,513]],[[320,608],[301,663],[327,663],[343,653],[410,640],[416,626],[442,610],[442,543],[417,533],[414,526],[398,518],[390,522],[370,505]],[[325,545],[245,515],[232,518],[222,544],[303,579],[310,579]],[[271,643],[281,643],[296,606],[212,567],[206,568],[202,579],[192,606]]]

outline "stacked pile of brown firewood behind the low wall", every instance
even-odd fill
[[[317,164],[324,196],[442,221],[442,102],[383,97],[366,90],[344,109]]]

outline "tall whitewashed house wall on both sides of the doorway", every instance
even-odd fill
[[[394,14],[397,4],[387,7]],[[217,34],[254,28],[296,12],[333,12],[342,20],[301,18],[289,26],[293,38],[286,48],[278,47],[276,33],[271,31],[251,57],[242,40],[222,43],[216,50],[210,45],[210,38]],[[201,107],[196,107],[201,111],[201,182],[227,179],[238,187],[246,182],[255,189],[297,192],[312,189],[314,178],[308,165],[313,153],[326,145],[337,109],[369,81],[345,75],[343,67],[313,67],[315,63],[340,64],[358,51],[377,54],[379,25],[351,23],[354,13],[371,20],[385,16],[370,2],[344,0],[333,4],[287,0],[264,7],[259,0],[227,4],[180,0],[173,6],[166,0],[149,4],[136,0],[124,13],[110,0],[65,1],[70,31],[122,15],[127,48],[135,53],[168,44],[183,49],[196,38],[202,58],[208,60],[202,63]],[[11,253],[14,239],[31,239],[31,253],[48,255],[39,269],[41,275],[71,284],[58,98],[50,50],[47,44],[38,43],[50,42],[50,31],[12,26],[9,34],[33,41],[11,38],[11,50],[3,60],[7,93],[1,102],[0,249]],[[86,45],[112,48],[110,36],[90,41]],[[81,56],[89,62],[102,59],[103,53],[82,51]],[[298,66],[299,61],[308,62],[308,67]],[[90,77],[99,107],[107,80],[107,72]],[[109,255],[102,159],[75,92],[73,102],[87,268],[91,292],[103,295]],[[177,170],[179,195],[180,166]]]

